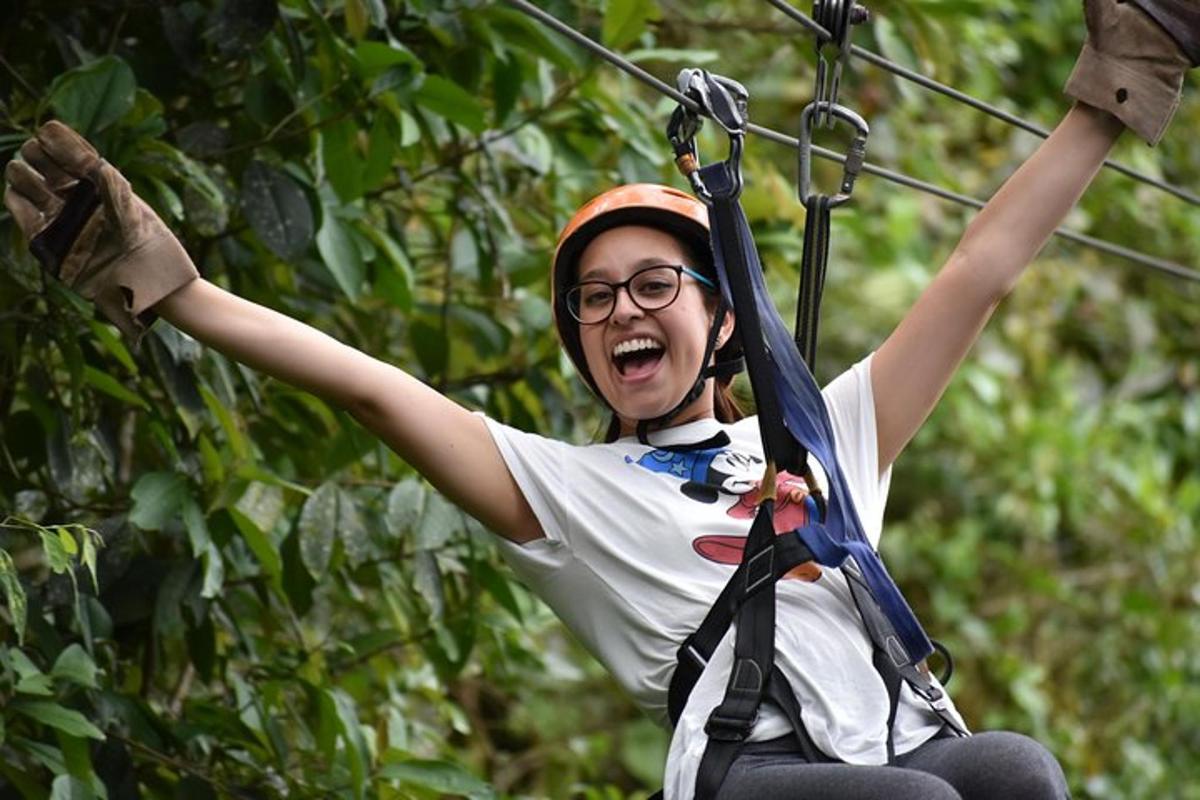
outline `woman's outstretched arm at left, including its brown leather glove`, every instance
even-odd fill
[[[341,405],[502,536],[544,535],[481,417],[391,365],[198,277],[154,210],[67,126],[43,125],[20,156],[5,168],[5,206],[42,265],[124,333],[144,333],[152,311],[229,357]]]

